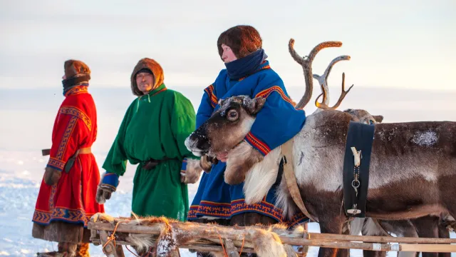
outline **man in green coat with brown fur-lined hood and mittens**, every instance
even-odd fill
[[[163,69],[141,59],[131,75],[138,96],[125,113],[118,135],[103,163],[106,172],[95,196],[105,203],[123,176],[127,161],[139,164],[133,179],[132,211],[138,216],[187,220],[187,183],[196,183],[202,169],[184,141],[195,130],[192,103],[163,83]]]

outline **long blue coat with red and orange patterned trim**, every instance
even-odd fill
[[[214,84],[204,89],[197,111],[196,127],[201,126],[214,111],[219,109],[217,104],[219,99],[239,95],[266,98],[266,103],[257,114],[252,129],[244,138],[263,156],[295,136],[304,126],[305,112],[294,108],[293,101],[286,93],[284,82],[271,69],[269,61],[264,61],[257,72],[239,80],[230,79],[226,69],[220,71]],[[289,225],[307,219],[299,213],[291,221],[287,220],[281,209],[274,206],[274,193],[279,181],[276,181],[261,203],[247,205],[242,191],[244,183],[236,186],[225,183],[225,168],[226,163],[219,161],[217,165],[212,166],[210,173],[203,173],[198,191],[190,206],[189,220],[195,220],[201,216],[231,218],[245,212],[261,213],[276,221],[287,222]]]

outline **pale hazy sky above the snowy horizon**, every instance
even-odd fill
[[[81,59],[97,87],[129,86],[142,57],[171,86],[212,84],[224,68],[217,37],[255,26],[286,86],[303,86],[287,44],[306,55],[321,41],[314,73],[339,55],[329,84],[456,91],[456,1],[8,1],[0,0],[0,89],[61,85],[63,61]]]

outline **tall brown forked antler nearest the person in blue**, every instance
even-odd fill
[[[326,41],[315,46],[314,49],[312,49],[309,56],[301,57],[294,50],[294,39],[290,39],[288,44],[289,52],[291,54],[291,57],[293,57],[294,61],[296,61],[298,64],[301,64],[302,69],[304,71],[304,81],[306,81],[306,92],[304,93],[304,96],[301,98],[299,103],[296,105],[296,109],[304,109],[304,106],[306,106],[306,104],[308,104],[311,100],[312,91],[314,90],[314,84],[312,81],[312,61],[314,61],[314,58],[316,54],[318,54],[318,51],[328,47],[341,46],[342,42],[340,41]]]

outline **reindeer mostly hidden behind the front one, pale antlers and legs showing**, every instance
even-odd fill
[[[318,81],[318,84],[326,91],[326,99],[323,104],[329,104],[329,87],[328,87],[328,76],[331,73],[333,66],[339,61],[348,61],[350,56],[338,56],[328,64],[328,67],[324,71],[323,75],[313,74],[314,79]],[[345,74],[342,74],[342,89],[344,90]],[[349,91],[350,89],[348,89]],[[322,92],[323,93],[323,92]],[[336,108],[338,105],[335,106]],[[324,109],[316,109],[314,114]],[[363,124],[378,124],[383,121],[383,116],[371,115],[368,111],[362,109],[346,109],[344,112],[351,114],[354,119]],[[355,218],[351,222],[351,234],[357,235],[362,233],[366,236],[390,236],[390,233],[395,233],[397,236],[406,237],[427,237],[427,238],[450,238],[450,232],[447,229],[447,223],[453,222],[454,218],[451,216],[424,216],[421,218],[400,220],[400,221],[388,221],[388,220],[377,220],[373,218]],[[386,256],[386,252],[380,251],[363,251],[364,256]],[[415,256],[415,252],[401,252],[400,257]],[[437,253],[423,253],[423,257],[437,256]],[[440,253],[440,257],[449,257],[450,253]]]

